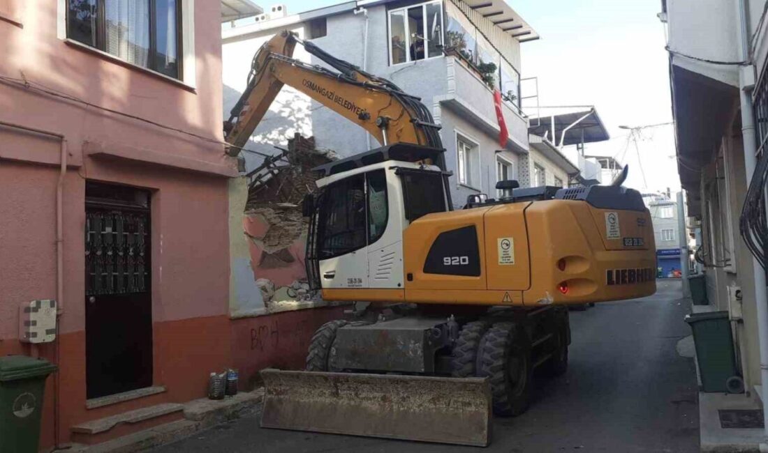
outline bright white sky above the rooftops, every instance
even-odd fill
[[[541,35],[521,44],[522,77],[538,78],[539,105],[594,105],[611,140],[588,144],[586,153],[629,165],[625,185],[634,189],[679,190],[672,125],[645,128],[635,140],[627,140],[629,131],[619,127],[672,121],[664,28],[657,18],[660,0],[506,1]],[[280,3],[295,14],[340,2]],[[524,82],[523,97],[531,94],[531,83]]]

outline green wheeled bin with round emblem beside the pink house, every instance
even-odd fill
[[[47,360],[0,357],[0,453],[37,453]]]

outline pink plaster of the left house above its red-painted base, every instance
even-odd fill
[[[8,0],[6,0],[8,1]],[[10,0],[22,27],[0,20],[0,76],[25,77],[89,103],[222,140],[219,2],[195,2],[197,88],[182,87],[57,38],[58,5]],[[23,75],[22,75],[23,74]],[[223,146],[137,120],[0,84],[0,121],[65,135],[65,314],[84,328],[84,182],[154,189],[155,321],[227,313],[227,181],[146,162],[94,159],[84,143],[147,149],[231,165]],[[58,141],[0,127],[0,339],[15,338],[22,300],[55,297]],[[22,161],[3,159],[12,156]]]

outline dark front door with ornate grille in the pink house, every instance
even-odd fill
[[[150,225],[148,192],[86,185],[88,399],[152,385]]]

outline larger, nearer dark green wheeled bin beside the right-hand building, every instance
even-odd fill
[[[740,381],[733,351],[727,311],[694,313],[685,317],[694,331],[696,360],[699,363],[702,392],[732,392],[729,379]]]

